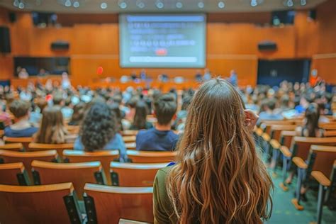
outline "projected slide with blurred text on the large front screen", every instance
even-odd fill
[[[121,67],[205,67],[204,14],[122,14]]]

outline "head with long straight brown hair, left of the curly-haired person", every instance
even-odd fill
[[[65,143],[66,133],[60,107],[48,106],[44,108],[40,129],[35,135],[35,142],[45,144]]]

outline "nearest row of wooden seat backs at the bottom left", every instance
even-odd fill
[[[84,206],[71,182],[40,186],[0,185],[1,223],[152,223],[152,187],[85,184]],[[124,223],[133,223],[130,221]]]

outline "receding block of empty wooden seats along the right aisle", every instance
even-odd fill
[[[260,128],[255,130],[261,145],[264,148],[265,159],[272,155],[273,176],[277,177],[276,168],[279,159],[282,159],[281,189],[289,190],[286,177],[289,170],[297,170],[298,181],[296,198],[292,203],[298,210],[301,205],[301,186],[315,179],[320,184],[317,220],[321,222],[322,208],[330,200],[331,192],[335,191],[336,184],[336,125],[329,123],[321,125],[325,129],[325,138],[306,138],[296,136],[296,121],[263,121]],[[325,194],[327,192],[327,194]]]

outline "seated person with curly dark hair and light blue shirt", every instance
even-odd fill
[[[127,161],[125,142],[117,125],[116,116],[106,103],[94,103],[84,118],[74,150],[119,150],[121,162]]]

